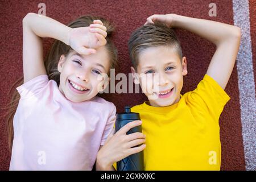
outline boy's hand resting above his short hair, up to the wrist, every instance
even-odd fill
[[[147,21],[146,23],[144,23],[144,25],[148,23],[154,24],[155,22],[160,22],[160,23],[166,24],[166,26],[171,28],[173,25],[173,20],[174,20],[174,14],[151,15],[147,18]]]

